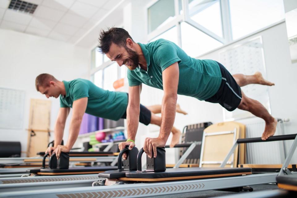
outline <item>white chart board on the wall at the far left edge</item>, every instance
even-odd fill
[[[25,92],[0,87],[0,128],[22,128]]]

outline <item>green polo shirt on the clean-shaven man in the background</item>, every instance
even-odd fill
[[[73,101],[88,97],[87,114],[118,120],[127,110],[127,93],[104,90],[80,78],[63,83],[66,96],[60,95],[60,107],[72,107]]]

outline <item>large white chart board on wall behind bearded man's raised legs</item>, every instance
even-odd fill
[[[253,75],[260,71],[266,78],[262,37],[255,37],[219,53],[219,59],[226,69],[233,74]],[[247,97],[259,101],[270,113],[268,86],[249,84],[241,87]],[[236,109],[232,112],[223,109],[224,121],[253,117],[248,111]]]

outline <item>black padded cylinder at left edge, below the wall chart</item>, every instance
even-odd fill
[[[0,142],[0,157],[21,157],[20,142]]]

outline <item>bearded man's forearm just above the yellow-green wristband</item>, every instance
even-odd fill
[[[135,141],[138,123],[139,123],[140,106],[128,105],[127,107],[127,139]]]

